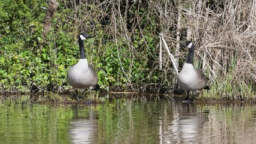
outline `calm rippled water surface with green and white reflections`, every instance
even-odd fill
[[[104,95],[100,104],[0,98],[0,143],[255,143],[254,104]]]

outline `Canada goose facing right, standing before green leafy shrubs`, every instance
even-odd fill
[[[80,59],[77,64],[72,65],[67,71],[67,82],[76,89],[77,98],[78,89],[89,89],[91,100],[91,90],[99,88],[99,85],[97,85],[99,78],[85,57],[84,40],[87,38],[91,38],[91,36],[86,32],[78,35]]]

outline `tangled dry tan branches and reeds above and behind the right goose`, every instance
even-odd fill
[[[191,39],[197,46],[195,63],[197,67],[208,71],[211,80],[225,77],[232,73],[236,80],[255,81],[256,68],[256,1],[67,1],[61,0],[65,8],[72,8],[73,15],[67,21],[75,23],[70,31],[104,29],[99,42],[98,52],[102,50],[104,41],[122,41],[128,49],[116,44],[116,49],[126,55],[129,68],[122,68],[121,73],[127,77],[127,86],[133,86],[132,67],[135,58],[150,59],[151,71],[159,69],[158,50],[160,32],[166,37],[172,53],[178,63],[184,61],[184,49],[180,43]],[[150,27],[150,35],[145,36],[145,29]],[[102,35],[104,35],[102,34]],[[147,37],[154,38],[152,50]],[[135,37],[143,43],[136,47]],[[145,55],[143,55],[143,53]],[[172,83],[175,74],[168,53],[163,54],[163,83],[166,79]],[[119,61],[122,63],[122,61]]]

